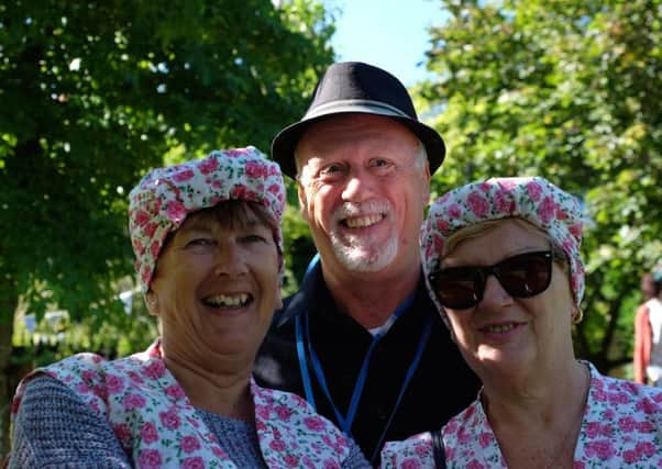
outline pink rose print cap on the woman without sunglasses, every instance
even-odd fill
[[[129,194],[129,232],[135,270],[147,292],[156,260],[168,233],[181,226],[189,213],[228,200],[258,202],[276,221],[274,239],[280,254],[285,186],[280,167],[257,148],[213,150],[202,159],[150,171]]]

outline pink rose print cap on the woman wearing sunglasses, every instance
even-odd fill
[[[428,290],[430,272],[441,265],[445,241],[453,233],[488,220],[523,219],[545,232],[563,249],[570,282],[580,306],[584,297],[582,244],[583,212],[577,199],[541,177],[492,178],[446,192],[432,203],[420,234],[420,255]],[[431,294],[439,311],[443,311]]]

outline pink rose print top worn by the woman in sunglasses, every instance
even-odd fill
[[[574,468],[662,468],[662,389],[602,376],[593,365]],[[442,428],[449,468],[507,468],[479,399]],[[383,468],[433,468],[430,433],[388,442]]]

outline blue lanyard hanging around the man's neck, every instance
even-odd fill
[[[396,310],[395,314],[391,316],[393,321],[397,320],[411,305],[412,301],[413,301],[413,295],[408,298],[402,304],[400,304],[400,306]],[[310,373],[308,372],[307,357],[306,357],[307,355],[309,355],[310,364],[315,371],[315,376],[316,376],[324,395],[327,397],[329,403],[331,404],[331,407],[333,409],[333,413],[335,415],[335,418],[336,418],[341,429],[346,435],[351,435],[352,424],[354,423],[354,417],[356,416],[356,410],[358,407],[358,402],[361,400],[361,395],[363,394],[363,388],[365,386],[365,381],[367,378],[367,370],[369,367],[371,357],[372,357],[373,350],[375,349],[376,345],[379,343],[379,340],[382,339],[384,334],[377,333],[375,335],[375,337],[373,337],[371,346],[363,359],[363,364],[361,366],[361,371],[358,372],[358,378],[356,379],[356,383],[354,384],[354,390],[352,392],[352,399],[350,401],[350,407],[347,410],[346,415],[343,416],[342,413],[340,412],[340,410],[336,407],[335,403],[333,402],[333,399],[331,398],[331,393],[327,386],[327,379],[326,379],[324,372],[322,370],[321,362],[319,360],[318,355],[315,351],[315,348],[312,347],[312,342],[310,339],[309,324],[310,324],[310,320],[308,317],[308,311],[304,312],[302,315],[297,316],[295,320],[297,355],[299,358],[299,367],[301,370],[301,379],[304,381],[304,391],[306,393],[306,400],[313,409],[317,410],[317,405],[315,403],[315,395],[312,393]],[[396,403],[394,404],[394,407],[393,407],[390,416],[387,421],[387,424],[386,424],[384,431],[382,432],[382,436],[379,438],[376,450],[378,450],[379,446],[382,445],[384,436],[386,435],[386,431],[390,426],[390,423],[396,413],[396,410],[400,405],[402,395],[405,394],[405,391],[407,390],[407,387],[409,386],[409,382],[411,381],[411,378],[413,377],[413,373],[415,373],[416,369],[418,368],[423,349],[426,348],[426,345],[430,337],[431,328],[432,328],[432,319],[428,319],[426,325],[423,326],[423,333],[419,340],[416,356],[415,356],[413,360],[411,361],[411,364],[409,365],[409,369],[407,370],[407,375],[405,377],[405,382],[402,383],[402,386],[400,388],[398,399],[396,400]]]

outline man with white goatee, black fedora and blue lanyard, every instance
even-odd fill
[[[258,353],[258,383],[299,393],[375,464],[386,440],[439,428],[478,380],[428,297],[418,236],[441,136],[389,72],[333,64],[272,157],[298,183],[318,256]]]

